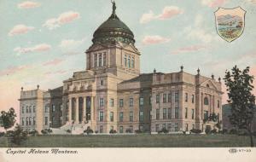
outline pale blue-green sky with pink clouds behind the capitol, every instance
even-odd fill
[[[224,78],[237,65],[251,67],[256,76],[256,0],[115,3],[119,19],[135,35],[141,72],[177,72],[183,65],[185,72],[200,68],[201,75]],[[218,36],[214,12],[238,6],[247,11],[244,32],[228,43]],[[53,89],[84,70],[84,51],[111,12],[110,0],[0,0],[0,111],[19,112],[21,87]]]

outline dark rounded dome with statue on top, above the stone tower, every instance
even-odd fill
[[[115,14],[115,9],[115,3],[113,2],[113,13],[108,20],[96,29],[93,34],[93,43],[135,43],[133,33],[124,22],[119,20],[119,17]]]

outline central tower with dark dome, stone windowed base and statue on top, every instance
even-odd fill
[[[113,11],[93,34],[92,45],[86,50],[86,70],[112,73],[120,80],[137,77],[140,73],[140,53],[134,35]]]

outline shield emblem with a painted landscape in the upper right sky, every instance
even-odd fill
[[[237,7],[235,9],[218,8],[215,11],[215,24],[218,35],[228,42],[239,38],[244,30],[246,11]]]

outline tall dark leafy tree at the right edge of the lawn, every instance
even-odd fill
[[[228,91],[228,102],[231,105],[230,124],[237,129],[247,130],[251,147],[253,147],[252,124],[255,96],[252,94],[254,77],[249,75],[249,70],[250,67],[241,71],[235,66],[231,72],[225,72],[224,82]]]

